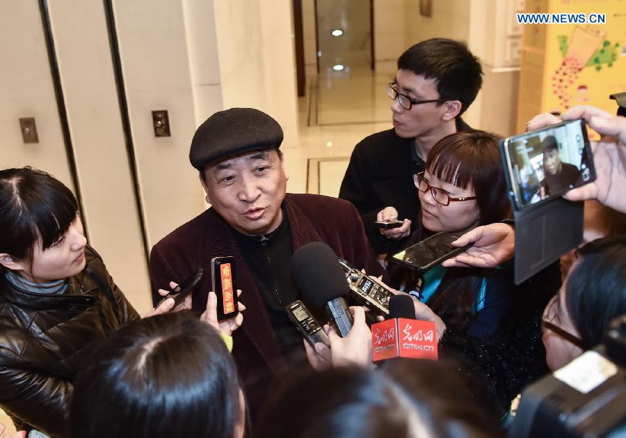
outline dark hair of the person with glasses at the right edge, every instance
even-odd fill
[[[585,347],[602,342],[609,322],[626,314],[626,235],[593,240],[565,285],[565,304]]]

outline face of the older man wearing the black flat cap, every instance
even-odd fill
[[[211,164],[200,181],[207,201],[232,228],[247,235],[264,235],[282,222],[280,205],[287,179],[278,152],[262,150]]]

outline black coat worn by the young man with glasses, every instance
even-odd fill
[[[471,130],[456,118],[456,130]],[[424,170],[424,162],[413,162],[414,139],[402,139],[391,129],[367,136],[355,146],[346,175],[339,189],[339,198],[355,205],[367,238],[376,253],[389,251],[390,240],[380,235],[374,225],[376,214],[385,207],[398,210],[399,219],[411,219],[419,212],[419,198],[413,184],[413,173]],[[412,226],[411,232],[415,231]]]

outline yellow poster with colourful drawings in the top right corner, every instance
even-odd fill
[[[520,84],[520,97],[537,93],[539,86],[541,102],[526,107],[520,102],[518,128],[533,110],[563,113],[588,104],[614,114],[616,102],[609,95],[626,91],[626,0],[529,0],[527,12],[549,14],[550,22],[524,26],[524,50],[529,53],[524,52],[528,56],[522,61],[522,78],[524,68],[528,71],[527,80]],[[580,21],[585,22],[572,22],[578,20],[571,17],[582,18],[582,14],[586,20]],[[554,23],[562,15],[570,24]],[[589,23],[592,15],[600,22],[604,18],[604,23]],[[543,50],[537,47],[537,39],[544,29],[538,28],[545,28],[545,38],[539,38],[545,40]],[[539,54],[543,65],[537,75]]]

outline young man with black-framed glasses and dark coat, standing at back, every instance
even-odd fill
[[[463,42],[433,38],[419,42],[398,60],[396,78],[387,84],[393,100],[393,129],[378,132],[355,146],[339,198],[359,211],[376,253],[386,253],[389,239],[408,236],[419,213],[413,175],[424,171],[428,151],[454,132],[470,130],[460,115],[482,85],[481,64]],[[375,221],[393,207],[404,219],[400,228],[381,231]],[[385,218],[388,219],[388,218]]]

